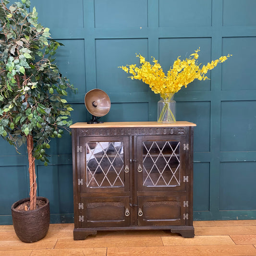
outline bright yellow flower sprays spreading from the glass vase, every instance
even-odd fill
[[[167,75],[165,75],[161,65],[154,57],[151,57],[154,62],[154,64],[151,65],[145,60],[145,57],[140,54],[136,54],[136,57],[140,58],[140,64],[142,64],[140,67],[137,67],[136,64],[132,64],[119,68],[122,68],[126,73],[129,72],[132,74],[129,76],[131,79],[142,80],[145,84],[149,85],[154,93],[159,93],[164,100],[167,100],[170,94],[178,92],[183,86],[187,87],[187,85],[195,79],[209,79],[205,75],[208,70],[213,69],[218,63],[222,63],[232,56],[230,54],[228,54],[228,56],[221,56],[219,59],[211,61],[200,68],[202,64],[198,64],[197,62],[199,51],[200,48],[195,50],[195,53],[191,54],[188,59],[183,61],[180,60],[179,56],[177,60],[174,61],[172,68],[167,72]],[[173,114],[169,114],[171,114],[173,118]],[[158,122],[160,121],[161,120],[158,120]]]

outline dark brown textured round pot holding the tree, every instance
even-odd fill
[[[25,243],[34,243],[44,238],[50,224],[50,205],[45,197],[37,196],[37,200],[45,201],[43,207],[31,211],[15,209],[18,205],[29,201],[29,198],[21,199],[12,205],[12,222],[17,237]]]

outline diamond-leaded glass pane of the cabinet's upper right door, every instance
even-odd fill
[[[180,142],[143,142],[143,185],[180,185]]]

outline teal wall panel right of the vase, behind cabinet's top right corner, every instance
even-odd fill
[[[176,112],[177,121],[185,120],[196,123],[194,129],[195,152],[210,151],[210,102],[177,102]]]

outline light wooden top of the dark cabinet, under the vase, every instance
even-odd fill
[[[180,126],[196,126],[195,123],[186,121],[177,121],[173,123],[158,122],[104,122],[88,124],[87,122],[76,122],[70,128],[111,128],[111,127],[180,127]]]

